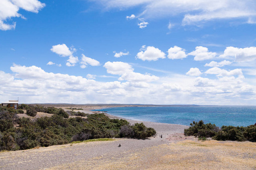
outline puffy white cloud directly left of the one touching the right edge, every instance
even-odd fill
[[[206,59],[213,59],[216,56],[216,53],[208,52],[208,48],[203,46],[197,46],[196,50],[188,53],[190,56],[195,56],[195,61],[203,61]]]

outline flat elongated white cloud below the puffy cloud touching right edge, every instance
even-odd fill
[[[234,69],[234,70],[224,70],[218,67],[210,68],[209,70],[205,71],[205,74],[216,74],[216,76],[233,76],[233,75],[243,75],[241,69]]]

